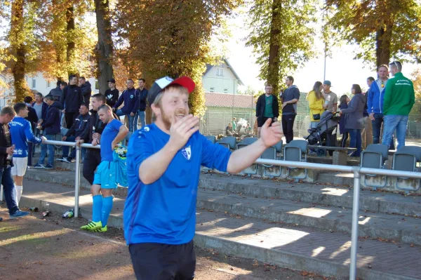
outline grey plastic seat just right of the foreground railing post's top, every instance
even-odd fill
[[[368,147],[361,152],[361,167],[366,168],[385,168],[385,161],[389,155],[389,147],[382,144],[370,144]],[[377,178],[378,175],[366,174],[364,175],[364,185],[367,187],[386,187],[387,177],[382,184],[370,184],[367,182],[367,178]],[[380,180],[379,180],[380,181]]]

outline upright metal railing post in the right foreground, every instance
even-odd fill
[[[351,234],[351,264],[349,265],[349,280],[356,279],[356,251],[358,246],[358,220],[359,220],[359,194],[360,178],[359,167],[354,171],[354,200],[352,202],[352,234]]]

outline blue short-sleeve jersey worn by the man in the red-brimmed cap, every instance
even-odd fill
[[[175,154],[161,178],[150,185],[139,179],[145,159],[159,152],[170,139],[155,124],[133,133],[128,144],[128,196],[124,207],[127,244],[186,244],[196,226],[196,196],[201,165],[227,171],[231,152],[199,132]]]

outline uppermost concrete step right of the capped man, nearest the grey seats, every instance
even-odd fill
[[[223,192],[290,199],[311,204],[352,208],[354,189],[340,185],[308,184],[285,180],[263,180],[233,175],[201,174],[199,187]],[[421,196],[362,190],[362,211],[421,217]]]

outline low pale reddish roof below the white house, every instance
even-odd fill
[[[233,103],[234,102],[234,106]],[[227,94],[227,93],[205,93],[206,107],[235,107],[235,108],[253,108],[256,102],[251,95]]]

